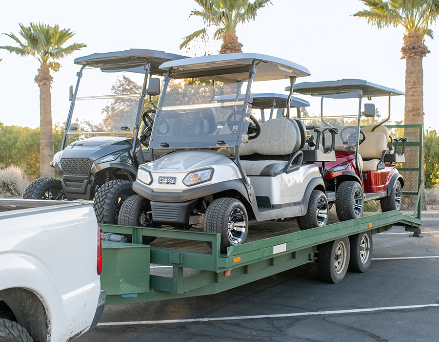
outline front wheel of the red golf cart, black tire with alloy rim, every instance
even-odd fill
[[[342,182],[336,193],[336,211],[340,221],[352,220],[363,215],[364,198],[359,182]]]

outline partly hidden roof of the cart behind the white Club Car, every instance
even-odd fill
[[[287,107],[287,99],[288,96],[286,94],[274,94],[274,93],[263,93],[263,94],[252,94],[253,108],[271,108],[273,107],[273,103],[275,103],[275,108],[286,108]],[[235,99],[235,95],[220,95],[215,96],[215,101],[230,101]],[[244,94],[239,96],[239,100],[244,99]],[[301,108],[301,107],[309,107],[310,104],[306,100],[302,100],[298,97],[292,96],[290,100],[290,106]]]

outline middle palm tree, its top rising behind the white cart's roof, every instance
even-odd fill
[[[195,31],[183,38],[180,49],[186,47],[196,38],[205,40],[207,38],[207,28],[215,26],[217,31],[214,33],[215,40],[222,40],[220,53],[242,52],[242,44],[238,42],[236,27],[239,23],[255,20],[256,12],[259,8],[265,7],[270,0],[195,0],[202,10],[193,10],[189,16],[201,17],[204,28]]]

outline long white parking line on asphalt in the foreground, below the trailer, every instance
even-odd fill
[[[284,318],[284,317],[321,316],[321,315],[344,315],[344,314],[366,313],[366,312],[375,312],[375,311],[401,311],[401,310],[410,310],[410,309],[425,309],[425,308],[433,308],[433,307],[439,307],[439,304],[384,306],[384,307],[377,307],[377,308],[364,308],[364,309],[351,309],[351,310],[295,312],[295,313],[290,313],[290,314],[276,314],[276,315],[192,318],[192,319],[186,319],[186,320],[102,322],[102,323],[99,323],[98,326],[172,324],[172,323],[208,322],[208,321],[254,320],[254,319],[260,319],[260,318]]]

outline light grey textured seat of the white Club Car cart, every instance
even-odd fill
[[[301,133],[298,124],[288,118],[268,120],[260,128],[259,137],[239,149],[241,159],[245,159],[241,166],[247,176],[276,176],[285,171],[292,154],[302,147]]]

